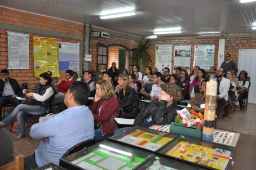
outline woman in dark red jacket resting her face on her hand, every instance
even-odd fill
[[[114,118],[119,116],[119,104],[117,96],[113,91],[112,84],[105,79],[95,82],[96,94],[91,105],[94,120],[100,123],[95,130],[94,141],[103,141],[111,137],[116,129],[117,123]]]

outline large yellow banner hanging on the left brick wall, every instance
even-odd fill
[[[33,37],[34,77],[51,71],[52,77],[59,77],[58,42],[55,38]]]

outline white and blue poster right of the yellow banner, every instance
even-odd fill
[[[80,71],[80,43],[58,42],[60,71]]]

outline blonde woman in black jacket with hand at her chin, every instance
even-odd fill
[[[137,92],[129,86],[129,77],[127,74],[118,75],[117,83],[116,95],[119,106],[124,111],[123,118],[134,119],[139,109]]]

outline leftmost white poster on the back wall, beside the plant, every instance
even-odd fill
[[[155,66],[160,73],[163,73],[164,68],[171,70],[171,52],[173,44],[156,44],[155,45]]]

